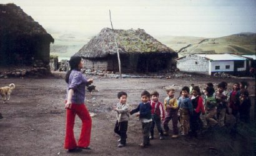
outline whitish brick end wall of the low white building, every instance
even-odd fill
[[[177,60],[177,68],[184,72],[208,74],[209,61],[204,57],[190,55]]]

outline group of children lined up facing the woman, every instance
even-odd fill
[[[207,83],[204,88],[204,97],[201,96],[199,86],[192,84],[189,87],[182,87],[180,96],[174,97],[175,89],[166,89],[167,97],[164,104],[159,101],[159,93],[157,91],[151,94],[144,90],[141,93],[141,102],[137,108],[129,110],[127,104],[127,93],[119,92],[117,97],[119,103],[114,110],[117,111],[117,121],[114,128],[121,138],[118,140],[117,147],[124,147],[127,139],[127,127],[129,115],[135,114],[142,123],[143,142],[140,147],[150,145],[150,139],[154,139],[154,127],[156,125],[160,135],[160,140],[164,139],[164,135],[169,136],[169,122],[172,120],[172,138],[179,137],[178,122],[180,122],[180,134],[197,137],[200,129],[209,127],[223,127],[225,125],[226,114],[230,114],[232,110],[236,122],[250,121],[250,99],[247,90],[248,83],[234,83],[233,90],[227,92],[227,83],[220,82],[215,92],[214,85]],[[201,115],[202,114],[202,115]],[[162,121],[163,127],[162,129]]]

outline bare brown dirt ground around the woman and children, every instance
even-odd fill
[[[44,79],[10,78],[0,79],[0,86],[14,83],[16,88],[11,99],[5,104],[0,101],[0,155],[254,155],[254,137],[243,134],[230,134],[229,127],[206,131],[197,139],[180,136],[178,139],[165,137],[164,140],[151,140],[151,147],[141,149],[142,132],[140,122],[135,115],[129,120],[127,146],[117,148],[114,134],[116,112],[112,110],[118,102],[117,92],[124,90],[128,94],[130,108],[140,102],[140,93],[146,89],[157,90],[161,101],[166,97],[164,87],[172,85],[179,94],[181,87],[194,83],[202,88],[206,82],[218,84],[222,80],[229,83],[248,80],[250,94],[254,94],[255,79],[220,79],[215,77],[185,77],[175,79],[150,78],[94,78],[98,92],[86,93],[86,105],[92,117],[90,151],[76,154],[66,153],[63,149],[65,137],[66,111],[64,99],[66,84],[59,77]],[[232,123],[232,117],[227,117]],[[232,124],[227,124],[232,125]],[[244,126],[244,125],[242,125]],[[171,127],[171,122],[170,122]],[[74,132],[80,134],[81,120],[76,117]]]

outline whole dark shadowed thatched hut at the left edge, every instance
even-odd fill
[[[0,4],[0,66],[34,66],[49,69],[54,39],[21,7]]]

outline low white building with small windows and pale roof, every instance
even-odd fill
[[[194,54],[177,59],[177,68],[185,72],[212,75],[215,72],[245,74],[246,58],[233,54]]]

